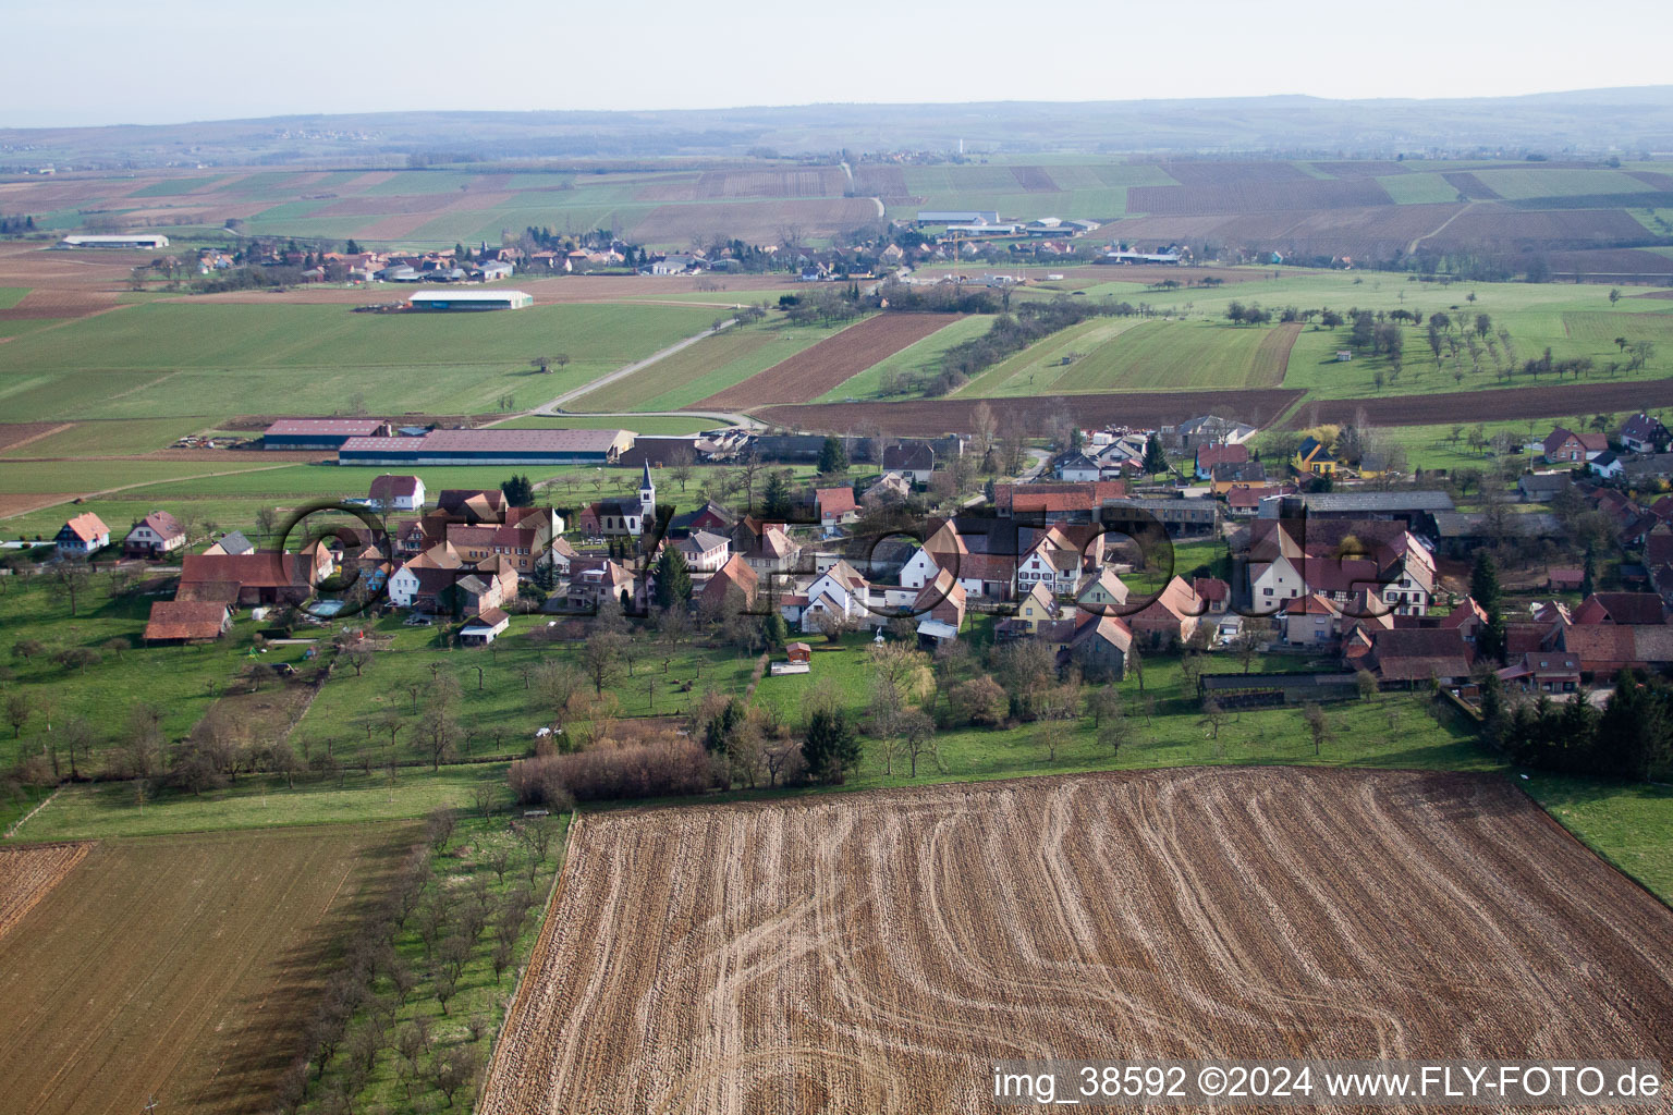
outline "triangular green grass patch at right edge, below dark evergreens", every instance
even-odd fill
[[[1583,844],[1673,904],[1673,787],[1541,771],[1516,782]]]

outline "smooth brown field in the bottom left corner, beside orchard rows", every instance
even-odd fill
[[[18,1115],[273,1110],[331,943],[410,829],[104,841],[0,938]]]

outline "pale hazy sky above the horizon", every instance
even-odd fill
[[[0,127],[1673,82],[1666,0],[23,0]]]

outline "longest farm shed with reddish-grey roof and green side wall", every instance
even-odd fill
[[[338,465],[614,465],[627,430],[432,430],[422,438],[348,438]]]

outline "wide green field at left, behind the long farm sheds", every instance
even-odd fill
[[[345,306],[152,303],[0,348],[12,420],[330,415],[534,406],[699,333],[701,306],[557,304],[510,314],[355,314]],[[77,353],[64,369],[62,353]],[[537,374],[535,356],[564,353]],[[207,423],[202,423],[207,425]]]

